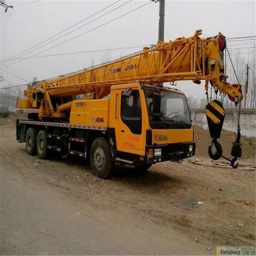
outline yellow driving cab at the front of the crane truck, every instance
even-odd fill
[[[111,87],[109,130],[118,159],[145,166],[195,154],[185,95],[154,84]]]

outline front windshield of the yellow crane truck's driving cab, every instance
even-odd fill
[[[152,129],[187,129],[191,128],[191,119],[188,109],[188,103],[184,94],[160,91],[161,107],[160,120],[153,121],[153,93],[156,89],[144,89],[149,124]]]

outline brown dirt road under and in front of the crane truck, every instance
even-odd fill
[[[12,121],[0,132],[1,254],[214,255],[216,245],[255,245],[255,170],[184,161],[100,180],[82,161],[28,156]]]

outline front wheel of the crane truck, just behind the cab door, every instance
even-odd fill
[[[108,141],[103,137],[95,139],[90,155],[93,174],[101,179],[110,178],[113,173],[113,162]]]

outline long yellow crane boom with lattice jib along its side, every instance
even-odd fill
[[[24,95],[33,99],[32,94],[43,93],[47,97],[66,97],[82,93],[95,93],[100,99],[109,94],[112,85],[132,82],[164,83],[192,80],[200,84],[205,80],[215,92],[228,94],[230,100],[242,100],[241,87],[226,81],[223,51],[225,37],[221,34],[200,38],[202,30],[194,36],[179,37],[174,41],[161,42],[144,47],[143,51],[102,64],[80,72],[43,80],[36,88],[28,88]],[[49,95],[49,96],[48,96]],[[32,105],[32,104],[31,104]]]

